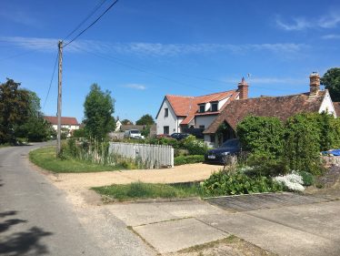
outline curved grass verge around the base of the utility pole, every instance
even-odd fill
[[[76,159],[56,159],[55,147],[37,148],[29,152],[29,159],[42,169],[54,172],[97,172],[125,169],[122,166],[102,166]]]

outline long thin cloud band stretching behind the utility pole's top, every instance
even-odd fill
[[[57,39],[36,37],[0,37],[1,41],[27,49],[54,51]],[[141,55],[141,56],[179,56],[190,54],[209,54],[228,52],[245,54],[266,51],[276,54],[298,53],[307,47],[304,44],[151,44],[151,43],[108,43],[95,40],[78,40],[65,47],[70,52],[92,52],[101,54]]]

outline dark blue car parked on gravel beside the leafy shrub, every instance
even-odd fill
[[[225,164],[227,156],[238,155],[240,152],[241,145],[238,138],[228,139],[221,147],[208,150],[205,154],[205,162]]]

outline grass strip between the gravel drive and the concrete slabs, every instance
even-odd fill
[[[151,184],[134,182],[127,185],[111,185],[92,188],[97,193],[110,200],[140,200],[140,199],[183,199],[201,197],[203,190],[198,184]]]

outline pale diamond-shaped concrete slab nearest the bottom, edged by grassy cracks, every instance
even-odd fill
[[[175,252],[228,236],[195,219],[170,220],[134,227],[134,230],[160,253]]]

